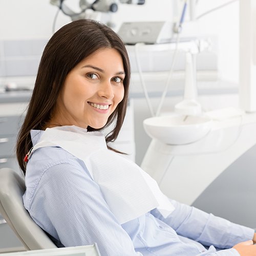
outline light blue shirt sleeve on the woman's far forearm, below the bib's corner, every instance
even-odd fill
[[[221,249],[231,248],[253,238],[254,230],[251,228],[231,223],[175,200],[170,201],[175,206],[175,210],[167,218],[163,218],[157,209],[152,210],[151,213],[183,237],[198,241],[205,246],[214,245]]]

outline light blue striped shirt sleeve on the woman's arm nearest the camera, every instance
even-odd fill
[[[131,238],[117,222],[97,183],[85,167],[77,164],[61,163],[46,170],[30,214],[46,231],[50,221],[66,247],[97,243],[101,255],[142,255],[135,252]]]

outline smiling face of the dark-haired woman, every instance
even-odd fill
[[[120,53],[103,48],[83,59],[67,75],[51,123],[103,127],[124,96]]]

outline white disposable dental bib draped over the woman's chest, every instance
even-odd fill
[[[154,179],[134,162],[108,150],[100,132],[87,132],[77,126],[48,128],[30,156],[46,146],[59,146],[84,162],[120,224],[154,208],[164,218],[175,209]]]

